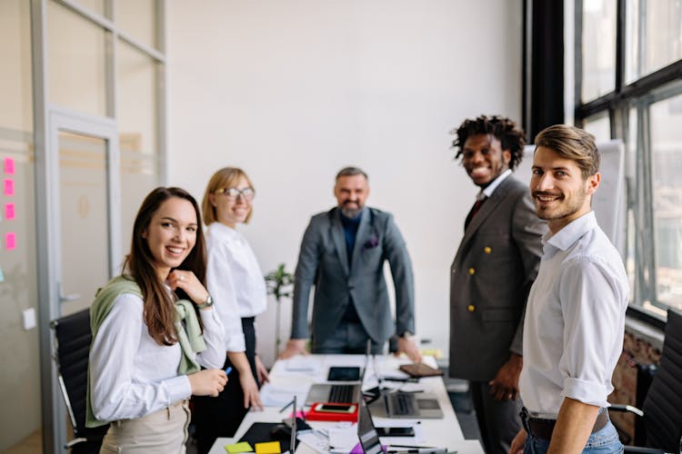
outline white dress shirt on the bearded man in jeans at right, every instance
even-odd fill
[[[543,238],[528,296],[521,399],[538,418],[557,418],[564,398],[607,407],[623,350],[627,274],[588,212]]]

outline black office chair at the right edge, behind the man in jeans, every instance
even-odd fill
[[[643,418],[647,448],[627,446],[625,452],[682,452],[682,312],[668,309],[665,335],[660,365],[642,410],[609,409],[631,411]]]

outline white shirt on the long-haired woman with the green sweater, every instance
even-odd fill
[[[156,343],[143,311],[142,298],[124,293],[97,331],[90,350],[90,397],[96,419],[141,418],[192,394],[187,376],[177,374],[180,344]],[[219,369],[225,363],[223,325],[216,311],[199,313],[206,350],[196,360],[208,369]]]

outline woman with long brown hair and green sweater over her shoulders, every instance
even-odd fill
[[[90,308],[86,424],[112,422],[101,452],[185,452],[189,397],[226,385],[225,330],[204,284],[199,220],[186,191],[149,193],[123,274]]]

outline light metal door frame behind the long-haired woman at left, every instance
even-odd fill
[[[49,106],[46,112],[45,153],[42,159],[42,176],[39,184],[41,191],[36,191],[38,200],[42,200],[37,209],[45,222],[38,223],[38,252],[40,273],[40,298],[38,301],[40,345],[41,345],[41,390],[43,413],[44,449],[54,447],[55,453],[63,452],[66,442],[66,413],[59,383],[56,378],[54,345],[50,322],[61,316],[62,245],[61,245],[61,211],[60,211],[60,178],[59,178],[59,132],[76,133],[105,140],[106,143],[106,200],[108,215],[109,252],[108,274],[112,277],[121,262],[121,216],[120,216],[120,154],[118,150],[118,133],[115,121],[111,118],[95,115],[79,114],[61,107]],[[37,175],[40,178],[40,174]],[[38,186],[36,184],[36,186]],[[84,245],[85,247],[86,245]],[[105,283],[105,282],[102,282]]]

